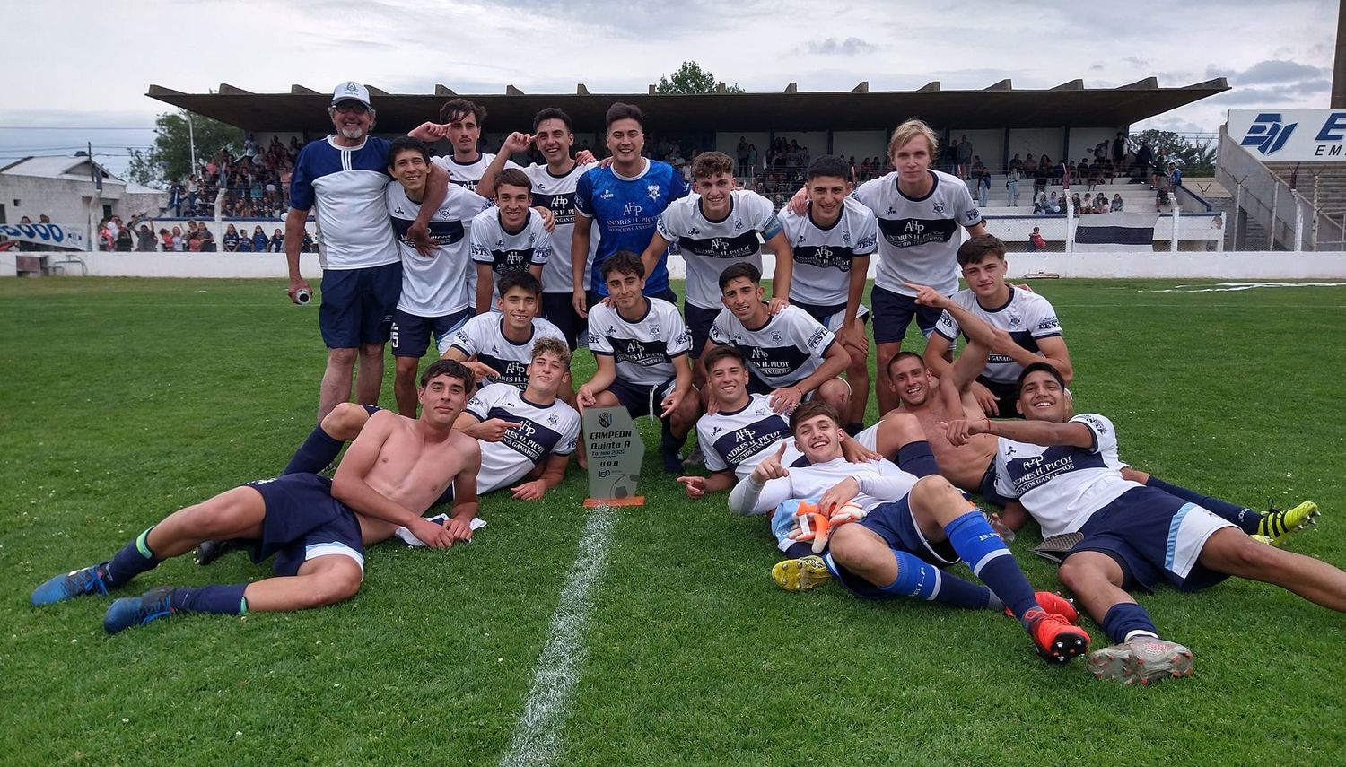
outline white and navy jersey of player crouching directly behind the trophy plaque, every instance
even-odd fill
[[[649,307],[626,320],[616,307],[596,304],[590,309],[590,351],[612,357],[616,375],[637,386],[657,386],[677,374],[673,359],[692,350],[692,334],[664,299],[646,299]]]

